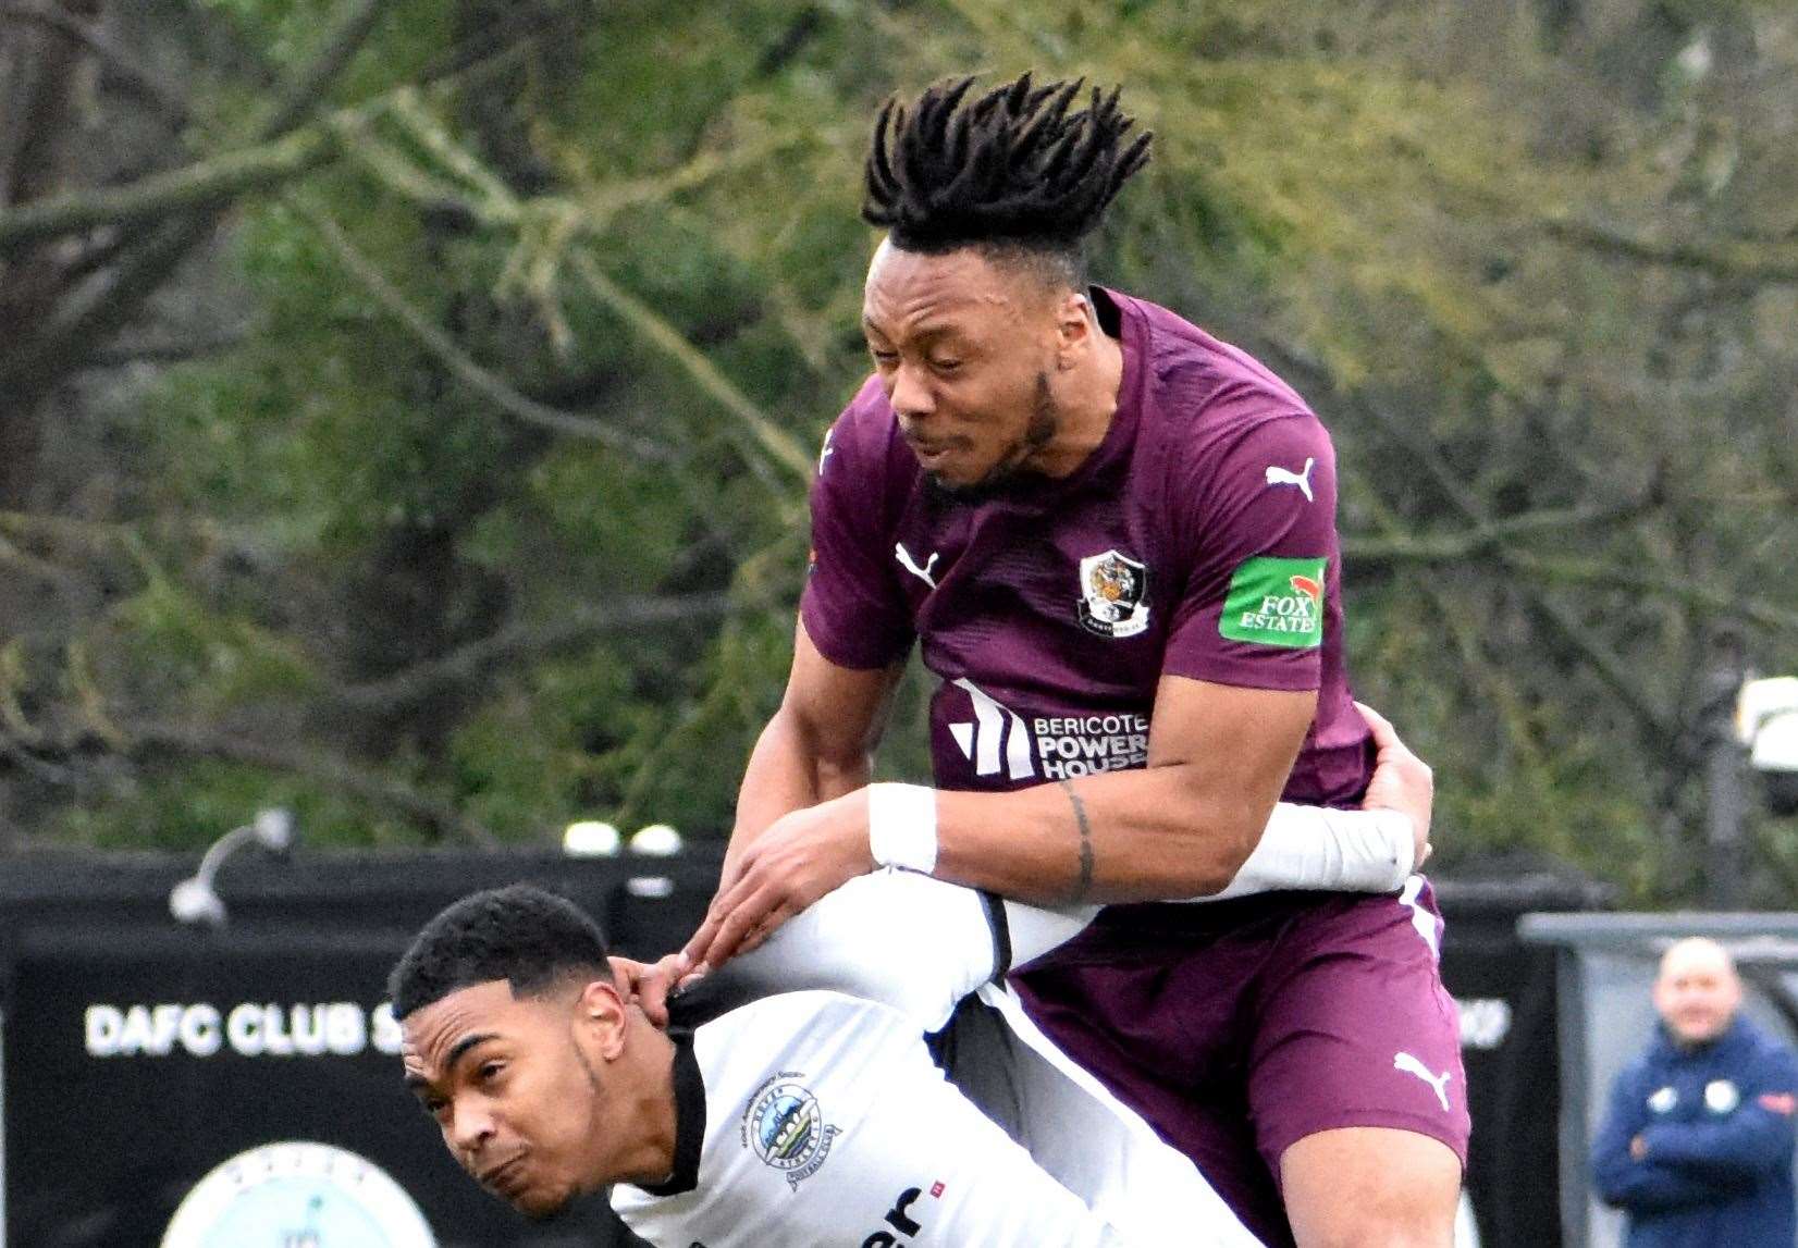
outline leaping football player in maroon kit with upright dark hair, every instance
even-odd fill
[[[1158,905],[1228,885],[1282,797],[1357,804],[1372,750],[1322,423],[1086,281],[1081,241],[1149,158],[1129,129],[1117,92],[1028,76],[881,110],[874,374],[823,446],[793,671],[685,958],[876,865],[1113,903],[1014,975],[1037,1023],[1264,1241],[1446,1248],[1469,1120],[1422,876]],[[935,786],[870,786],[913,642]]]

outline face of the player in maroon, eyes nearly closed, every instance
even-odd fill
[[[861,329],[937,486],[975,493],[1041,468],[1061,428],[1057,302],[1034,275],[971,248],[924,255],[881,243],[874,254]]]

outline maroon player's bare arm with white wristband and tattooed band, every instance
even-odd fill
[[[1163,678],[1149,766],[1012,793],[870,786],[797,809],[732,847],[689,940],[721,966],[854,876],[886,863],[1037,905],[1165,901],[1224,888],[1248,860],[1298,755],[1313,692]],[[1205,748],[1228,741],[1230,748]],[[870,795],[872,800],[870,800]],[[904,797],[883,813],[879,802]],[[912,843],[921,849],[910,849]]]

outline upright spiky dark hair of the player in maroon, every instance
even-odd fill
[[[1032,86],[1030,74],[969,99],[975,79],[937,83],[910,106],[890,97],[874,122],[861,216],[894,246],[1027,252],[1079,273],[1081,239],[1124,182],[1149,164],[1142,133],[1109,95],[1068,111],[1086,79]]]

